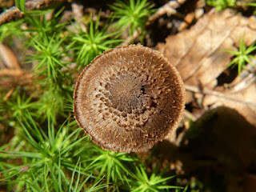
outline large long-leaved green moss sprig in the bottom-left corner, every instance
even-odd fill
[[[69,169],[70,164],[76,164],[74,161],[77,158],[74,157],[74,154],[79,156],[86,149],[86,142],[90,141],[88,137],[78,138],[81,129],[77,129],[76,122],[70,122],[70,119],[56,129],[49,118],[46,125],[47,134],[29,115],[27,120],[20,120],[20,124],[28,143],[26,149],[31,150],[30,152],[26,150],[0,151],[0,158],[22,158],[23,162],[22,166],[0,162],[2,167],[6,167],[6,170],[2,171],[6,177],[5,180],[25,186],[28,185],[28,180],[32,179],[33,185],[30,183],[29,186],[26,186],[27,189],[42,186],[42,191],[66,191],[70,182],[63,169]],[[74,131],[68,134],[70,129]],[[57,133],[55,130],[58,130]],[[28,170],[21,171],[24,167],[28,167]],[[34,175],[37,177],[34,178]],[[21,182],[22,180],[26,182]]]

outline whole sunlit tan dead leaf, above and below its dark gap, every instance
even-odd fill
[[[190,30],[169,36],[166,44],[158,44],[158,50],[177,67],[186,90],[204,96],[202,106],[230,107],[256,126],[255,74],[241,78],[232,89],[214,90],[218,76],[226,70],[233,56],[224,49],[238,50],[240,38],[244,38],[246,46],[256,40],[256,18],[224,10],[206,14]]]

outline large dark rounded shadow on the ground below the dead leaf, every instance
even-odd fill
[[[165,140],[155,151],[173,165],[179,162],[177,174],[195,176],[210,191],[256,189],[256,127],[236,110],[210,110],[190,126],[179,146]]]

